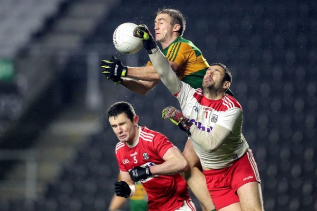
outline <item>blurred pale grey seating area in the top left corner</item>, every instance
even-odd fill
[[[0,0],[0,57],[14,58],[65,0]]]

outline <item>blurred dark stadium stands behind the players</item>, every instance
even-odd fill
[[[0,211],[106,211],[118,166],[105,114],[119,100],[184,148],[186,136],[160,117],[178,106],[162,84],[136,95],[99,68],[112,55],[144,65],[144,50],[120,55],[112,34],[123,22],[154,31],[163,7],[187,17],[183,37],[209,63],[232,70],[265,210],[317,211],[313,0],[0,0]]]

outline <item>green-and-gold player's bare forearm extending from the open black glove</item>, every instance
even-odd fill
[[[128,67],[126,77],[144,81],[159,81],[160,77],[153,66]]]

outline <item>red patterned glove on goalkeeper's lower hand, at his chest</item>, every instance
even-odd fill
[[[189,118],[186,118],[179,110],[177,110],[174,106],[168,106],[162,111],[162,118],[169,118],[174,124],[178,125],[180,130],[185,131],[188,135],[190,135],[190,127],[193,122]]]

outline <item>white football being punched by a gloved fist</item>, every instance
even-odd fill
[[[142,40],[133,36],[133,30],[137,26],[137,24],[127,22],[116,28],[112,40],[120,53],[135,54],[143,47]]]

